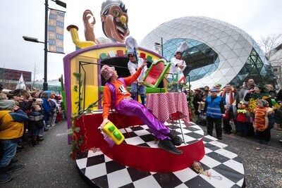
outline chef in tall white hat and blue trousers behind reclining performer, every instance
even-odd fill
[[[130,75],[134,75],[138,68],[144,63],[144,59],[138,57],[137,53],[137,42],[133,37],[128,37],[125,41],[125,46],[128,49],[128,70],[130,72]],[[133,99],[136,98],[137,92],[140,94],[140,98],[142,101],[142,104],[145,105],[145,93],[146,93],[146,87],[143,85],[142,80],[145,76],[145,73],[147,71],[147,65],[142,69],[140,76],[137,78],[135,82],[131,84],[131,97]]]

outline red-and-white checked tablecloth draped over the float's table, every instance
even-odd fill
[[[182,113],[185,125],[189,126],[188,101],[183,92],[147,94],[146,106],[162,123],[169,120],[169,115]]]

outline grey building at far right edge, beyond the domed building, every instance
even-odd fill
[[[270,51],[269,63],[271,64],[274,70],[274,75],[276,76],[277,88],[282,88],[282,44]]]

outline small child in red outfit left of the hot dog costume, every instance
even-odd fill
[[[240,101],[240,103],[238,104],[238,110],[236,112],[237,113],[236,122],[239,130],[239,135],[243,138],[247,137],[247,124],[246,124],[247,110],[245,108],[246,106],[243,103],[243,101]]]

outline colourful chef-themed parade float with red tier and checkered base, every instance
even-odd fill
[[[181,99],[173,100],[173,104],[172,98],[167,101],[160,98],[168,96],[165,78],[148,79],[147,108],[152,113],[157,107],[170,113],[164,115],[166,118],[162,121],[169,118],[170,123],[166,125],[183,138],[184,143],[178,146],[183,154],[173,155],[160,149],[158,141],[142,120],[116,111],[111,111],[109,120],[125,140],[114,145],[107,142],[105,134],[99,130],[103,121],[102,94],[106,84],[100,70],[102,65],[111,65],[120,77],[130,75],[124,44],[129,35],[128,15],[122,1],[104,1],[102,28],[106,37],[113,41],[106,44],[95,37],[96,21],[94,19],[90,23],[90,17],[91,11],[86,10],[83,14],[85,41],[79,39],[77,26],[67,27],[77,50],[63,58],[68,128],[71,133],[68,142],[73,144],[71,157],[75,159],[80,175],[98,187],[195,187],[199,184],[203,187],[242,187],[244,169],[238,156],[227,151],[226,144],[217,142],[214,137],[204,136],[201,127],[190,122],[185,94],[169,94],[169,97],[177,95],[177,99]],[[167,63],[162,56],[142,47],[138,51],[139,56],[149,63],[149,70],[154,70],[156,65],[167,71]],[[159,75],[166,77],[163,71]],[[181,118],[171,118],[179,113]]]

